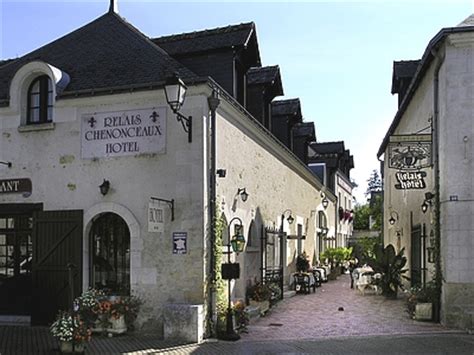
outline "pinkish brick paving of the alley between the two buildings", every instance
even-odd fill
[[[404,295],[397,300],[350,288],[349,275],[323,283],[316,293],[285,299],[268,316],[249,326],[242,339],[314,339],[322,337],[419,334],[446,330],[439,324],[409,319]],[[338,311],[343,307],[344,311]]]

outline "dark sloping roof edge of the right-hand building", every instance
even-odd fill
[[[405,98],[403,99],[402,103],[400,104],[400,107],[398,108],[398,111],[393,118],[392,123],[390,124],[390,127],[385,134],[385,137],[382,141],[382,144],[379,147],[379,150],[377,152],[377,158],[380,158],[382,154],[385,153],[385,149],[387,148],[388,142],[390,140],[390,136],[395,132],[395,129],[397,128],[398,124],[400,123],[400,120],[402,119],[403,114],[408,108],[408,105],[411,102],[411,99],[413,98],[413,95],[415,94],[416,89],[420,85],[421,81],[423,80],[424,74],[429,68],[429,65],[433,61],[434,57],[436,54],[433,54],[433,50],[436,49],[436,47],[441,45],[441,42],[450,34],[453,33],[463,33],[463,32],[474,32],[474,26],[461,26],[461,27],[446,27],[441,29],[428,43],[428,46],[425,49],[425,52],[423,54],[423,57],[421,58],[420,65],[418,65],[418,69],[416,70],[415,76],[408,87],[408,91],[405,95]]]

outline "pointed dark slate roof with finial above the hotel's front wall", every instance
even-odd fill
[[[173,73],[184,81],[198,77],[171,58],[114,12],[0,67],[0,101],[7,102],[9,85],[24,64],[44,61],[70,76],[61,96],[111,88],[162,83]]]

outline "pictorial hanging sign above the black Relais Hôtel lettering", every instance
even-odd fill
[[[398,170],[419,170],[431,166],[431,134],[390,136],[388,166]]]

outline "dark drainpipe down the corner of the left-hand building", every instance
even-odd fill
[[[209,324],[212,324],[212,318],[215,314],[215,305],[216,305],[216,270],[215,270],[215,244],[216,244],[216,110],[219,106],[219,98],[216,89],[212,90],[212,95],[208,97],[207,102],[209,104],[209,109],[211,110],[211,126],[210,126],[210,146],[211,146],[211,156],[209,161],[209,222],[210,222],[210,275],[211,282],[209,284],[209,310],[208,320]],[[212,332],[214,329],[211,330]]]

